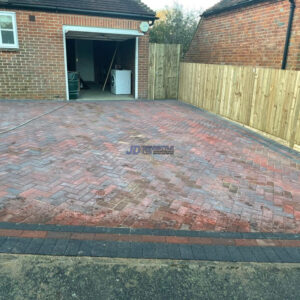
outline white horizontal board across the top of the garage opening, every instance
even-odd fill
[[[118,28],[104,28],[104,27],[86,27],[86,26],[69,26],[64,25],[63,31],[65,33],[69,31],[77,32],[92,32],[102,34],[117,34],[117,35],[132,35],[132,36],[143,36],[144,34],[138,30],[133,29],[118,29]]]

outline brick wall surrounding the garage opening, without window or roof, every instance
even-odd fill
[[[8,11],[17,15],[19,50],[0,49],[0,99],[66,98],[63,25],[138,29],[140,24],[126,19]],[[30,22],[29,15],[35,15],[36,21]],[[148,40],[148,35],[139,38],[140,98],[147,98]]]

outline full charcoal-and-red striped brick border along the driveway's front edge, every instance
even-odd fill
[[[89,232],[89,229],[93,232]],[[0,253],[232,262],[300,262],[299,235],[200,231],[184,231],[185,236],[174,235],[179,232],[0,223]],[[244,235],[247,238],[241,238]]]

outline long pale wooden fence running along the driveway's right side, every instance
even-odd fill
[[[300,72],[181,63],[179,100],[300,144]]]

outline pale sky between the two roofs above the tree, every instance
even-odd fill
[[[205,10],[219,1],[220,0],[177,0],[179,4],[188,10]],[[172,6],[174,0],[142,0],[142,2],[146,3],[150,8],[158,10],[165,6]]]

